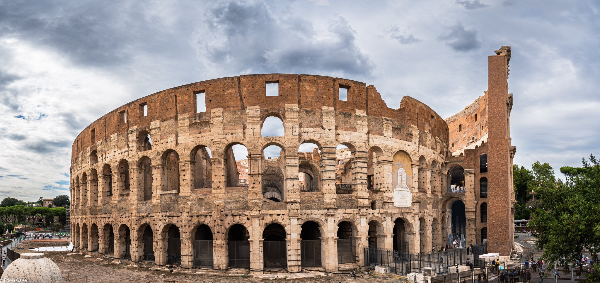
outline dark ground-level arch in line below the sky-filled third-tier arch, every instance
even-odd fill
[[[287,267],[286,230],[280,224],[269,224],[263,230],[265,268]]]

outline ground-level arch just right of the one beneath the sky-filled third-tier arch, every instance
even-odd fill
[[[321,231],[319,224],[307,221],[300,231],[300,264],[302,267],[322,266]]]

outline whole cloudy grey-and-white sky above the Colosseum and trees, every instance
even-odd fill
[[[249,73],[338,76],[449,117],[512,46],[515,163],[600,154],[597,1],[0,0],[0,199],[68,194],[71,144],[131,100]]]

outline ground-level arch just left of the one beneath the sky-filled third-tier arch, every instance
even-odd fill
[[[244,225],[235,224],[227,232],[229,267],[250,267],[250,234]]]

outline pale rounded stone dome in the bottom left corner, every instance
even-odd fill
[[[21,254],[9,264],[2,279],[27,279],[28,283],[62,282],[62,273],[56,263],[40,252]]]

